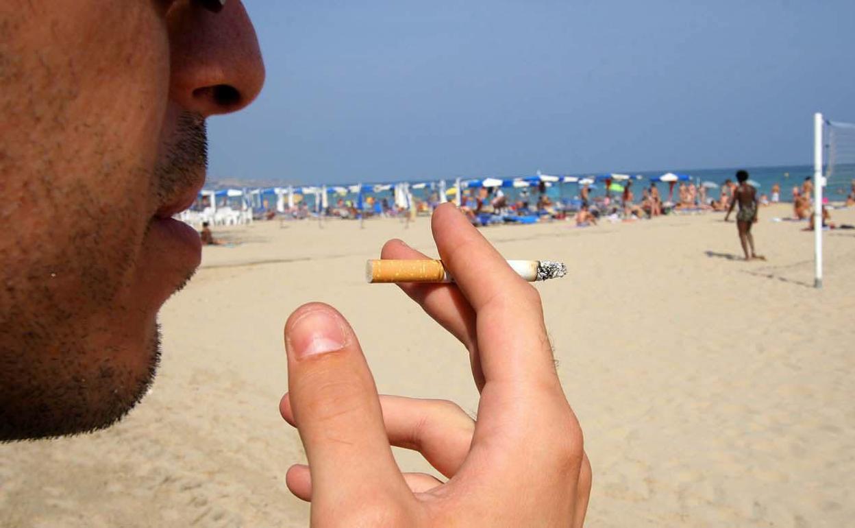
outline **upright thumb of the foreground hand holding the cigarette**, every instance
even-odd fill
[[[285,343],[291,405],[309,458],[315,507],[405,491],[374,378],[345,318],[332,306],[302,306],[288,318]]]

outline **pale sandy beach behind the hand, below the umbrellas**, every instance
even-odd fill
[[[855,231],[813,234],[760,211],[766,262],[741,262],[722,214],[498,226],[507,258],[570,276],[538,288],[593,465],[589,526],[845,526],[855,519]],[[855,210],[833,211],[855,223]],[[282,327],[312,300],[357,330],[380,392],[475,412],[465,350],[364,263],[390,238],[435,255],[429,219],[215,228],[197,276],[161,312],[162,365],[109,430],[0,446],[0,525],[306,526],[286,489],[303,462],[279,416]],[[533,446],[533,448],[536,448]],[[428,471],[396,450],[404,470]]]

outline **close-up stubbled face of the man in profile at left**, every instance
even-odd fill
[[[202,187],[204,119],[257,96],[238,0],[0,3],[0,441],[112,424],[198,266],[171,220]]]

